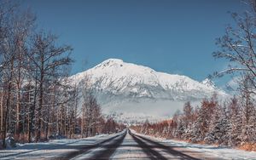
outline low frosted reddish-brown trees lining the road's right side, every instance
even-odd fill
[[[188,140],[221,146],[256,146],[256,108],[243,100],[232,98],[220,103],[216,95],[202,100],[201,106],[185,103],[183,112],[177,111],[172,120],[160,123],[145,122],[133,127],[142,134],[170,139]]]

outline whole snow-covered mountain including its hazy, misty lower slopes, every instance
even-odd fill
[[[78,83],[80,88],[83,88],[84,81],[88,82],[89,79],[89,87],[102,105],[102,110],[114,112],[113,115],[120,113],[123,117],[123,113],[129,108],[144,114],[148,109],[155,112],[154,110],[159,108],[157,112],[161,112],[161,107],[164,110],[167,107],[171,113],[177,103],[181,106],[187,100],[198,102],[213,93],[220,97],[227,95],[209,79],[200,83],[186,76],[154,71],[147,66],[126,63],[119,59],[104,60],[99,65],[70,78],[73,83]],[[173,103],[175,106],[172,106]],[[150,114],[149,117],[156,116]],[[168,113],[166,115],[170,116]]]

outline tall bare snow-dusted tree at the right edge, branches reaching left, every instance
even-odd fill
[[[249,9],[243,14],[231,14],[236,26],[228,26],[223,37],[219,37],[219,50],[213,53],[216,58],[230,61],[224,71],[214,76],[236,75],[241,94],[241,108],[231,113],[230,145],[255,143],[255,96],[256,96],[256,1],[249,0]],[[232,110],[231,110],[232,111]],[[233,111],[234,112],[234,111]]]

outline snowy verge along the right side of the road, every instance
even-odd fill
[[[137,134],[134,130],[131,130],[131,132]],[[229,147],[224,146],[211,146],[211,145],[200,145],[200,144],[192,144],[187,143],[184,141],[179,140],[166,140],[162,138],[156,138],[153,136],[145,135],[145,134],[138,134],[145,138],[148,138],[150,140],[157,140],[162,142],[162,144],[166,146],[173,146],[173,147],[180,147],[180,148],[186,148],[193,151],[203,152],[204,154],[207,154],[214,157],[224,158],[224,159],[254,159],[256,160],[256,151],[242,151],[242,150],[236,150]]]

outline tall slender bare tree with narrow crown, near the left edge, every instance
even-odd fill
[[[14,45],[15,47],[15,61],[14,61],[14,87],[16,89],[15,93],[15,103],[16,103],[16,126],[15,134],[19,136],[20,134],[20,106],[21,106],[21,86],[24,83],[24,79],[27,75],[27,39],[33,29],[35,21],[35,16],[29,11],[19,16],[15,16],[15,20],[12,20],[12,26],[14,26]]]

